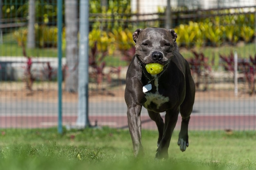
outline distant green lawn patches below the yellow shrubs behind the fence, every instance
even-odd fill
[[[255,44],[246,44],[245,46],[223,46],[219,48],[205,47],[198,50],[198,52],[204,53],[206,57],[209,58],[209,61],[214,60],[214,65],[218,67],[219,65],[219,54],[229,55],[231,51],[236,51],[238,53],[238,58],[249,58],[250,55],[254,56]],[[27,55],[32,57],[57,57],[57,49],[26,49]],[[193,57],[191,51],[181,51],[182,55],[185,58]],[[8,44],[0,44],[0,56],[23,56],[22,48],[16,44],[16,42]],[[63,57],[65,57],[65,51],[63,51]],[[126,66],[128,62],[120,60],[119,56],[107,56],[105,58],[107,66]]]

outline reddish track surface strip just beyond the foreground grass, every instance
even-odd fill
[[[128,128],[126,116],[90,116],[90,123],[113,128]],[[0,128],[47,128],[57,126],[56,116],[2,116]],[[64,116],[63,125],[75,125],[76,116]],[[156,130],[155,122],[141,116],[142,128]],[[176,129],[180,129],[179,117]],[[190,130],[256,130],[256,115],[249,116],[202,116],[192,115]]]

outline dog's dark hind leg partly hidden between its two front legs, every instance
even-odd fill
[[[159,113],[155,113],[153,111],[148,110],[148,115],[149,115],[150,119],[155,121],[155,124],[157,125],[157,129],[159,132],[159,137],[157,140],[157,147],[158,147],[160,144],[160,141],[163,137],[163,133],[164,133],[164,121]]]

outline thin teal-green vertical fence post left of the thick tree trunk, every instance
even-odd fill
[[[62,0],[57,1],[57,26],[58,26],[58,132],[62,134]]]

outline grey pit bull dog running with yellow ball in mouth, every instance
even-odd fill
[[[126,74],[125,101],[134,155],[138,157],[144,153],[140,120],[144,106],[159,131],[156,158],[167,158],[179,112],[182,124],[178,145],[182,152],[189,146],[188,126],[195,99],[195,83],[189,63],[179,53],[174,30],[137,29],[132,37],[136,50]],[[163,71],[150,75],[145,68],[149,63],[164,65]],[[161,112],[166,112],[164,121]]]

